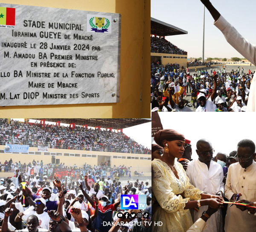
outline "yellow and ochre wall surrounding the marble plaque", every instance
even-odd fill
[[[150,0],[3,0],[2,3],[119,13],[122,18],[120,102],[8,106],[1,107],[2,118],[150,118],[150,88],[145,88],[150,75]]]

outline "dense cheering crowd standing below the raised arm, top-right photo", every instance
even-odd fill
[[[151,110],[163,112],[244,112],[254,72],[240,66],[227,73],[224,68],[189,68],[169,71],[168,65],[151,68]],[[156,71],[156,72],[155,72]],[[188,99],[186,93],[191,93]],[[190,107],[190,108],[189,108]]]

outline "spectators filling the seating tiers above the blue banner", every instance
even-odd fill
[[[0,119],[0,144],[47,146],[49,148],[150,154],[151,151],[122,132],[30,124]]]

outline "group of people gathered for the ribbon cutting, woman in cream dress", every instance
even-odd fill
[[[159,130],[154,141],[152,219],[163,225],[152,224],[152,231],[254,230],[256,153],[253,141],[239,141],[237,150],[227,155],[215,154],[211,142],[200,139],[196,143],[196,160],[191,158],[191,141],[175,130]]]

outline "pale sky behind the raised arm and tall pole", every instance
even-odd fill
[[[211,0],[212,5],[251,44],[256,44],[255,0]],[[202,57],[204,5],[200,0],[151,0],[151,17],[188,31],[188,34],[168,36],[178,48],[188,52],[188,58]],[[205,8],[204,57],[243,58],[214,25]]]

